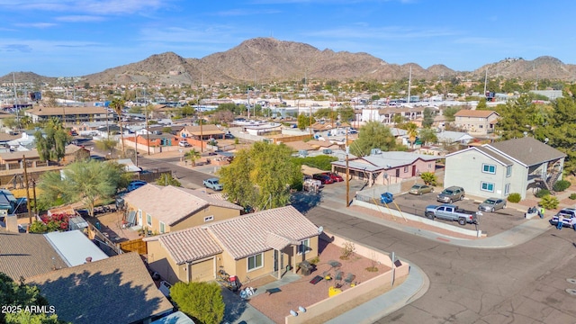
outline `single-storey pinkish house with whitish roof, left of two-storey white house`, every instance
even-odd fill
[[[422,172],[434,172],[437,158],[410,152],[375,150],[369,156],[349,159],[348,169],[352,178],[366,180],[369,186],[392,184],[419,176]],[[332,162],[332,171],[346,174],[346,161]]]

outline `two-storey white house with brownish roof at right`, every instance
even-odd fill
[[[528,189],[551,189],[562,179],[565,157],[531,137],[474,146],[446,155],[444,185],[486,198],[520,193],[524,199]]]

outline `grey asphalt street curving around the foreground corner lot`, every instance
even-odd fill
[[[171,167],[185,186],[201,186],[207,175],[175,166],[177,161],[140,158],[145,167]],[[355,189],[358,184],[355,184]],[[334,186],[341,190],[341,185]],[[331,193],[330,188],[323,194]],[[305,194],[305,215],[335,234],[418,265],[428,292],[376,323],[574,323],[576,322],[576,232],[552,227],[511,248],[456,247],[324,208],[334,203]],[[576,292],[576,291],[575,291]]]

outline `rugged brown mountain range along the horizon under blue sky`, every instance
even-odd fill
[[[204,58],[183,58],[173,52],[152,55],[136,63],[107,68],[102,72],[81,76],[90,85],[118,83],[133,84],[211,84],[269,83],[300,81],[304,77],[320,80],[399,80],[451,79],[455,76],[483,80],[502,76],[518,80],[551,79],[573,81],[576,65],[565,64],[558,58],[542,56],[534,60],[504,58],[485,64],[473,71],[455,71],[442,64],[428,68],[417,63],[393,64],[368,53],[335,52],[316,49],[295,41],[256,38],[245,40],[233,49]],[[39,76],[33,72],[14,72],[17,82],[54,83],[57,78]],[[12,73],[0,77],[11,83]]]

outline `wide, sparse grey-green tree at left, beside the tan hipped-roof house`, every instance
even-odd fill
[[[124,167],[117,163],[95,160],[75,162],[61,173],[47,172],[40,176],[40,201],[82,201],[93,216],[98,200],[111,198],[129,181]]]

